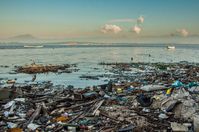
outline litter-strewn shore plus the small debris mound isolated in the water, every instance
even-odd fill
[[[106,63],[102,85],[78,88],[51,81],[1,80],[0,129],[22,131],[199,131],[199,64]],[[43,74],[69,65],[16,67]],[[71,71],[73,72],[73,70]]]

